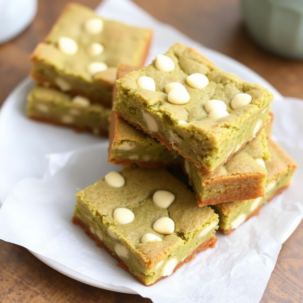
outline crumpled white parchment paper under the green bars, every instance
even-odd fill
[[[161,50],[157,51],[153,45],[152,52],[163,53],[177,41],[188,46],[191,42],[173,28],[163,27],[126,0],[105,1],[98,12],[119,20],[124,20],[122,14],[124,18],[127,15],[130,20],[142,24],[150,22],[150,27],[161,29],[162,33],[171,32],[169,37],[165,37],[168,39],[166,47],[161,45]],[[195,44],[197,48],[203,48]],[[210,55],[214,56],[213,53]],[[218,64],[222,58],[215,55]],[[236,62],[235,71],[247,77],[245,69],[243,72],[243,67]],[[264,82],[261,77],[256,78],[261,84]],[[267,83],[265,85],[269,86]],[[284,100],[274,88],[272,90],[276,95],[272,138],[298,164],[291,186],[266,204],[259,216],[245,222],[231,235],[218,233],[219,239],[214,249],[199,253],[192,262],[156,285],[141,285],[116,266],[112,257],[96,247],[94,241],[71,222],[77,189],[85,188],[108,171],[120,168],[107,163],[108,146],[104,141],[49,154],[46,158],[47,170],[42,178],[31,177],[19,181],[0,208],[0,238],[28,248],[43,260],[49,259],[55,264],[58,262],[72,277],[82,275],[92,279],[95,286],[138,293],[155,303],[259,302],[282,241],[291,234],[303,216],[303,188],[300,181],[303,178],[303,101]]]

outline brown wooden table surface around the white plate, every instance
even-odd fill
[[[28,75],[29,55],[48,33],[66,2],[40,0],[32,24],[12,41],[0,45],[0,105]],[[100,1],[78,2],[95,8]],[[240,0],[134,2],[201,44],[247,65],[282,95],[303,98],[303,61],[280,58],[255,45],[245,31]],[[283,244],[262,303],[303,302],[302,235],[303,223]],[[139,295],[107,291],[75,281],[48,267],[25,248],[0,240],[0,302],[151,301]]]

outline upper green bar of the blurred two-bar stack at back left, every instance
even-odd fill
[[[96,34],[88,32],[85,27],[85,22],[95,19],[102,21],[102,30]],[[35,48],[31,56],[34,62],[32,74],[38,80],[54,82],[55,79],[51,78],[54,78],[56,71],[61,77],[67,77],[64,80],[70,85],[73,83],[70,77],[78,77],[87,83],[103,82],[112,86],[118,65],[143,65],[151,35],[150,29],[106,20],[83,5],[71,3],[66,6],[45,42]],[[61,50],[58,42],[62,37],[71,38],[75,42],[75,53],[66,54]],[[96,43],[98,46],[94,48]],[[71,45],[69,42],[65,44],[68,50],[73,45],[74,43]],[[89,64],[95,62],[105,63],[108,68],[92,72]],[[51,68],[51,71],[47,68]],[[77,90],[79,87],[73,89]]]

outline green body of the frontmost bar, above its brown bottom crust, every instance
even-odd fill
[[[119,239],[119,243],[140,260],[144,268],[141,271],[149,271],[150,275],[152,268],[163,259],[172,256],[178,258],[176,254],[182,256],[179,258],[184,258],[214,236],[218,215],[209,207],[199,207],[195,195],[166,170],[126,167],[120,174],[125,179],[125,184],[120,188],[108,185],[102,178],[79,191],[76,195],[75,215],[85,223],[94,225],[92,228],[102,231],[105,245],[112,251],[113,238],[109,234],[114,234],[114,238]],[[175,195],[175,200],[168,208],[155,205],[153,195],[158,190]],[[128,208],[133,212],[134,220],[118,224],[113,218],[116,208]],[[175,223],[173,232],[162,234],[153,229],[154,222],[161,217],[169,217]],[[205,229],[209,230],[201,235]],[[141,243],[141,238],[146,233],[157,235],[163,241]]]

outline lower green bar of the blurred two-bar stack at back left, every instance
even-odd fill
[[[112,110],[84,97],[35,85],[27,96],[26,112],[34,120],[107,137]]]

